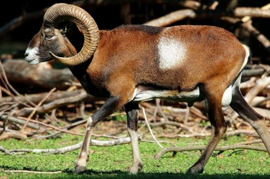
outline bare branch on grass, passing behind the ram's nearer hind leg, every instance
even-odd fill
[[[155,155],[155,159],[160,159],[162,155],[164,155],[167,152],[174,151],[174,152],[179,152],[179,151],[192,151],[192,150],[203,150],[205,149],[206,146],[185,146],[185,147],[168,147],[161,149],[158,151]],[[222,147],[216,147],[215,150],[219,151],[225,151],[225,150],[230,150],[230,149],[250,149],[250,150],[257,150],[257,151],[266,151],[267,149],[265,147],[258,147],[258,146],[249,146],[249,145],[231,145],[231,146],[222,146]]]

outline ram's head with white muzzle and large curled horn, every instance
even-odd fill
[[[69,22],[75,23],[84,36],[79,53],[66,36]],[[57,3],[46,11],[39,32],[25,52],[25,60],[30,64],[38,64],[54,59],[73,66],[88,60],[97,49],[98,42],[98,27],[85,10],[76,5]]]

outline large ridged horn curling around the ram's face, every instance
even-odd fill
[[[57,57],[52,52],[49,52],[49,54],[62,64],[74,66],[90,59],[94,54],[99,42],[99,30],[94,19],[85,10],[76,5],[54,4],[44,15],[44,26],[57,27],[64,21],[71,21],[81,29],[84,37],[83,47],[73,57]]]

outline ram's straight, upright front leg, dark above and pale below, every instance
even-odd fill
[[[127,115],[127,131],[131,140],[133,155],[133,162],[129,169],[129,173],[137,174],[143,167],[137,137],[139,104],[127,103],[124,107]]]

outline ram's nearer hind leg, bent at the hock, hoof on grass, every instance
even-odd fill
[[[223,116],[221,101],[223,94],[215,89],[205,88],[205,104],[211,122],[211,137],[203,150],[201,156],[197,162],[187,171],[187,173],[202,173],[206,162],[212,155],[214,149],[218,145],[221,137],[224,135],[227,129],[227,125]],[[211,92],[208,92],[211,91]]]

